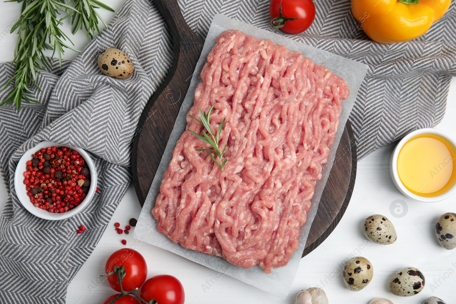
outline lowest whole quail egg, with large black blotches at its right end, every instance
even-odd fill
[[[409,297],[425,288],[425,276],[414,267],[399,270],[389,282],[389,290],[398,296]]]

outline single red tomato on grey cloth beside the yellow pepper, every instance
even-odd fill
[[[281,4],[280,4],[281,3]],[[282,16],[280,16],[280,5],[282,6]],[[299,34],[303,31],[306,31],[312,24],[315,19],[315,5],[312,0],[271,0],[269,4],[269,15],[271,19],[276,19],[278,22],[282,17],[282,22],[275,24],[278,26],[284,24],[283,27],[280,27],[282,31],[285,31],[289,34]],[[289,20],[288,18],[299,18],[295,20]]]

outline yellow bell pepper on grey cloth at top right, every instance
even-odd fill
[[[393,43],[423,35],[450,4],[451,0],[352,0],[352,12],[373,41]]]

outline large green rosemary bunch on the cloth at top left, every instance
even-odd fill
[[[76,21],[73,34],[78,31],[80,20],[84,24],[88,35],[93,36],[94,30],[98,32],[98,18],[101,19],[98,13],[93,13],[94,8],[98,8],[94,4],[100,5],[108,10],[114,11],[107,5],[100,4],[95,0],[75,0],[75,6],[65,3],[65,0],[8,0],[5,2],[22,2],[21,18],[11,28],[11,33],[18,31],[18,38],[14,48],[14,60],[16,68],[14,76],[6,83],[4,90],[11,82],[14,82],[14,87],[10,95],[8,95],[1,103],[15,103],[18,110],[21,109],[22,101],[38,103],[36,99],[26,96],[25,93],[33,94],[29,88],[36,84],[36,74],[40,70],[44,70],[46,66],[51,67],[50,62],[44,56],[44,51],[52,50],[52,57],[57,53],[59,63],[62,65],[62,54],[65,48],[78,52],[73,47],[69,46],[64,41],[73,42],[65,33],[60,30],[62,20],[68,16],[73,16],[73,21]],[[69,3],[69,2],[68,2]],[[76,7],[83,7],[83,10],[78,10]],[[88,13],[89,12],[89,13]],[[67,13],[63,18],[59,18],[60,13]],[[87,21],[87,22],[86,22]],[[106,23],[103,24],[106,26]]]

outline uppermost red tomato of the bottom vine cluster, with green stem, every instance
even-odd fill
[[[125,277],[122,281],[122,287],[125,291],[140,288],[147,277],[147,265],[143,256],[136,250],[123,248],[117,250],[108,258],[104,268],[105,273],[114,270],[114,266],[125,266]],[[108,283],[112,289],[120,292],[120,285],[117,282],[117,274],[108,276]]]

